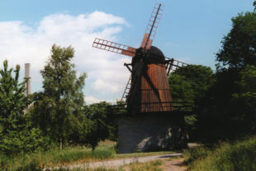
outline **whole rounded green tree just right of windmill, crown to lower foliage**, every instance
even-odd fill
[[[173,102],[184,102],[192,105],[192,113],[186,114],[184,117],[190,135],[197,128],[196,122],[201,122],[201,110],[206,109],[206,96],[215,81],[216,78],[211,68],[201,65],[178,68],[169,76]]]

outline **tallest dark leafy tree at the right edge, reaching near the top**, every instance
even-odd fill
[[[207,110],[201,125],[208,135],[212,130],[211,137],[216,139],[247,133],[250,129],[246,127],[245,131],[245,125],[252,126],[249,120],[254,120],[254,112],[249,108],[255,105],[253,91],[244,91],[254,86],[254,81],[245,81],[244,76],[253,76],[248,67],[256,66],[256,12],[240,13],[232,22],[230,33],[216,53],[216,84],[211,89],[211,100],[207,101],[211,110]]]

